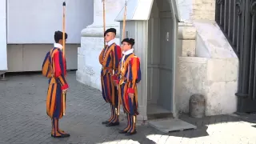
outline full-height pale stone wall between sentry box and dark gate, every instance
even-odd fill
[[[215,0],[177,0],[181,57],[175,84],[177,113],[189,111],[192,94],[206,98],[206,115],[232,114],[237,108],[238,58],[219,29]],[[190,12],[185,14],[184,11]],[[229,103],[228,105],[226,103]]]

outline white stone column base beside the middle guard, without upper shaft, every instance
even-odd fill
[[[119,26],[108,25],[106,29],[113,27],[117,30],[115,42],[120,43]],[[78,48],[78,70],[76,73],[78,82],[101,90],[101,68],[98,56],[104,46],[103,27],[87,26],[81,32],[81,47]]]

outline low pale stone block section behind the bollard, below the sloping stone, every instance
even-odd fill
[[[178,89],[175,100],[178,111],[189,111],[192,94],[206,98],[206,115],[232,114],[237,108],[237,58],[180,57]],[[227,105],[228,103],[228,105]]]

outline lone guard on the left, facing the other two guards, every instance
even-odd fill
[[[63,33],[56,31],[54,34],[54,48],[46,54],[46,58],[42,64],[42,74],[49,78],[49,86],[46,98],[46,113],[51,118],[52,130],[51,136],[54,138],[70,137],[63,130],[59,129],[58,120],[63,117],[65,108],[63,102],[63,94],[69,88],[66,82],[66,58],[62,53],[62,43],[66,41],[62,38]]]

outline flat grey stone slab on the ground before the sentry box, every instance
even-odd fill
[[[184,122],[178,118],[150,121],[149,124],[150,126],[153,126],[155,129],[162,131],[163,133],[197,128],[197,126],[194,126],[188,122]]]

